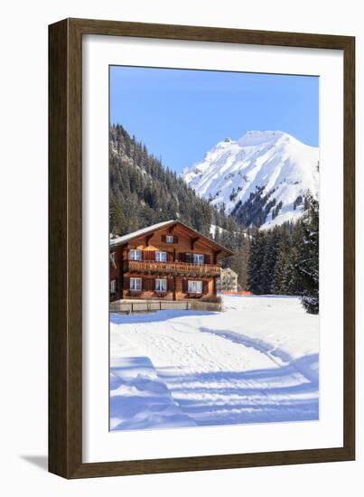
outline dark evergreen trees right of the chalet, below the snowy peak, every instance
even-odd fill
[[[247,288],[255,295],[299,295],[319,312],[319,202],[307,192],[303,217],[271,230],[251,230]]]

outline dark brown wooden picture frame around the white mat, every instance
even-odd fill
[[[344,427],[334,448],[82,463],[82,36],[340,50],[344,54]],[[355,39],[212,27],[66,19],[49,28],[49,471],[65,478],[153,474],[355,457]]]

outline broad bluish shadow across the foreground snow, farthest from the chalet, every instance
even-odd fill
[[[318,354],[265,370],[194,372],[158,368],[146,357],[111,368],[111,429],[315,420],[318,379],[299,378]],[[300,367],[297,363],[302,362]],[[127,388],[120,395],[119,388]]]

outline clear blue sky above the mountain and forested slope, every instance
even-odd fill
[[[178,173],[249,130],[281,130],[317,146],[318,113],[314,76],[110,67],[111,123]]]

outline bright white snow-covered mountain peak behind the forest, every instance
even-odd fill
[[[319,149],[282,131],[248,131],[237,141],[226,138],[182,177],[202,197],[229,213],[247,200],[266,196],[263,228],[302,215],[300,197],[310,190],[318,197]],[[270,204],[268,205],[268,202]],[[280,204],[282,202],[282,205]],[[247,210],[247,209],[246,209]]]

